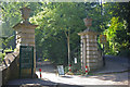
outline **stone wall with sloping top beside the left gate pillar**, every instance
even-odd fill
[[[18,52],[8,53],[2,63],[2,85],[8,80],[18,78]]]

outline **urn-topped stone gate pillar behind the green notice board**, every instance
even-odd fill
[[[16,24],[13,28],[16,32],[16,51],[20,52],[20,46],[32,46],[34,47],[34,72],[36,72],[36,47],[35,47],[35,28],[38,25],[32,25],[28,22],[30,9],[23,8],[22,17],[23,22]],[[24,72],[31,72],[31,70],[25,70]]]

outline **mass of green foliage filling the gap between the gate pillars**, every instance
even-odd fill
[[[77,33],[86,29],[82,20],[87,15],[94,18],[92,28],[100,30],[98,27],[101,22],[98,20],[101,16],[98,17],[98,8],[100,8],[98,3],[43,2],[41,8],[42,11],[29,18],[31,23],[39,25],[36,29],[37,58],[46,57],[55,63],[66,64],[67,36],[65,34],[70,33],[70,49],[78,47],[79,36]]]

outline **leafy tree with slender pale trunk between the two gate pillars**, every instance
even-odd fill
[[[70,51],[69,46],[70,49],[75,49],[76,47],[79,46],[79,36],[77,35],[77,33],[86,29],[82,20],[87,15],[94,18],[93,24],[96,25],[93,25],[92,28],[95,30],[100,30],[98,29],[98,27],[100,27],[100,25],[98,24],[100,24],[101,22],[96,22],[96,20],[101,18],[98,17],[100,13],[98,8],[100,8],[99,3],[83,3],[83,2],[82,3],[75,3],[75,2],[42,3],[42,11],[39,12],[36,16],[30,18],[31,23],[39,25],[39,27],[36,29],[36,37],[38,36],[38,39],[36,38],[36,42],[38,44],[37,48],[43,47],[42,44],[46,44],[46,41],[51,37],[54,37],[56,39],[58,33],[62,32],[64,33],[64,35],[62,35],[61,37],[66,36],[67,38],[64,40],[64,44],[68,46],[68,58],[69,58],[69,51]],[[95,26],[98,27],[95,28]],[[66,47],[66,45],[64,47]],[[49,52],[50,51],[48,50],[48,54]],[[58,60],[63,58],[58,57]],[[54,59],[56,59],[56,57]]]

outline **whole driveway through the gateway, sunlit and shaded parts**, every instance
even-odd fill
[[[110,57],[112,58],[112,57]],[[43,80],[50,80],[57,84],[68,84],[68,85],[128,85],[128,70],[127,66],[121,65],[117,61],[109,61],[106,58],[106,66],[102,70],[95,72],[95,75],[62,75],[58,76],[56,67],[52,64],[42,63],[41,66],[37,67],[37,75],[39,76],[39,69],[42,70]],[[114,73],[116,72],[116,73]],[[102,74],[101,74],[102,73]]]

